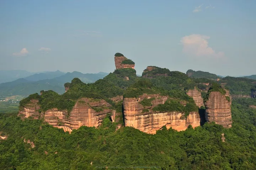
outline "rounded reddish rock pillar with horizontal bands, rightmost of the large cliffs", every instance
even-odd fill
[[[228,94],[226,94],[228,95]],[[213,91],[209,95],[209,100],[206,101],[206,120],[209,122],[215,122],[222,125],[224,128],[231,128],[231,98],[227,100],[225,96],[218,91]]]

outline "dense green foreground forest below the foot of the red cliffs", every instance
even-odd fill
[[[205,123],[195,129],[146,134],[131,127],[116,130],[107,117],[99,128],[82,126],[71,134],[43,120],[17,114],[0,116],[1,169],[76,170],[254,170],[256,105],[252,98],[232,101],[233,127]],[[221,134],[225,135],[225,142]],[[30,139],[35,147],[23,142]],[[46,152],[45,152],[46,151]]]

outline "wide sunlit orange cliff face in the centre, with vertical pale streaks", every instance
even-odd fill
[[[155,98],[151,103],[152,106],[143,107],[139,102],[144,98]],[[181,112],[154,112],[152,108],[158,104],[164,104],[168,99],[167,96],[160,95],[142,95],[139,98],[124,98],[124,124],[125,126],[132,126],[140,131],[155,134],[162,126],[167,129],[172,128],[178,131],[186,130],[188,125],[193,127],[200,126],[200,116],[197,112],[185,118]],[[147,109],[147,111],[145,111]]]

